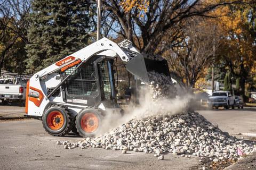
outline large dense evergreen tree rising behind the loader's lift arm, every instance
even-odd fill
[[[27,73],[33,74],[87,44],[89,17],[86,1],[34,0],[26,45]]]

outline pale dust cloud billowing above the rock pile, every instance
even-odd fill
[[[175,98],[163,98],[159,97],[157,100],[153,98],[154,89],[146,87],[142,91],[139,98],[139,105],[129,105],[125,108],[125,113],[122,116],[118,113],[108,112],[102,120],[102,127],[99,128],[96,136],[103,135],[109,132],[113,128],[127,123],[134,118],[148,117],[148,116],[171,116],[182,113],[187,109],[189,101],[191,100],[190,95],[183,95],[182,97]]]

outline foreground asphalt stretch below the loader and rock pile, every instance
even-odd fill
[[[77,142],[83,138],[47,134],[38,120],[0,122],[0,169],[189,169],[198,157],[171,154],[158,160],[153,154],[102,148],[64,149],[58,140]]]

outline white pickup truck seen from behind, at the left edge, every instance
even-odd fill
[[[25,104],[26,84],[29,78],[0,77],[0,103],[6,104],[9,101],[20,101]]]

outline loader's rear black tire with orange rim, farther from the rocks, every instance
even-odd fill
[[[65,106],[52,105],[43,115],[45,131],[54,136],[63,136],[71,130],[72,122]]]

